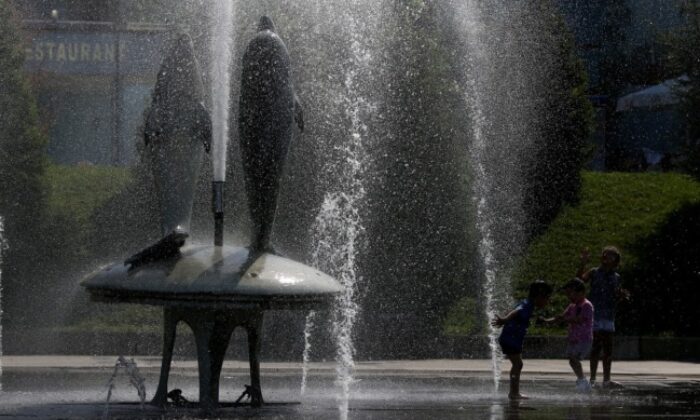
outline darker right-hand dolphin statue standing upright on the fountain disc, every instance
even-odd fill
[[[253,222],[251,255],[273,252],[270,235],[280,177],[292,142],[293,124],[304,120],[291,80],[289,52],[267,16],[243,55],[239,137],[248,206]]]

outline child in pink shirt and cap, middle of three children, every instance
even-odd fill
[[[576,374],[576,389],[587,392],[591,390],[591,384],[583,376],[581,359],[588,357],[593,344],[593,305],[586,299],[586,285],[581,279],[570,280],[563,289],[571,303],[564,313],[545,322],[564,321],[569,324],[566,356]]]

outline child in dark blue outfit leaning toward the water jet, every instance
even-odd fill
[[[494,327],[503,326],[498,343],[503,350],[503,354],[508,357],[512,364],[510,370],[510,392],[508,398],[512,400],[527,398],[520,393],[520,372],[523,369],[523,341],[527,328],[530,325],[530,317],[535,308],[544,308],[552,296],[552,286],[537,280],[530,284],[527,299],[512,310],[505,317],[496,315],[491,323]]]

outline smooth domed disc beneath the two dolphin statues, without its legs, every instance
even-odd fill
[[[250,309],[308,309],[341,292],[332,277],[302,263],[248,249],[188,245],[180,255],[137,268],[121,262],[90,274],[81,285],[96,301]]]

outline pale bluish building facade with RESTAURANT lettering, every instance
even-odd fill
[[[16,2],[25,71],[56,164],[130,165],[137,158],[167,27],[120,20],[119,2]]]

